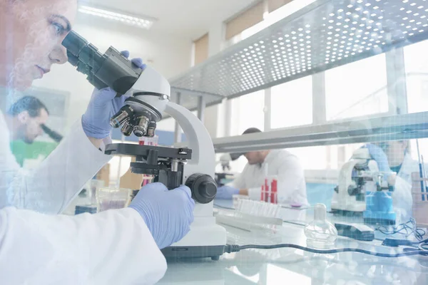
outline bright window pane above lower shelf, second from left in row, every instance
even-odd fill
[[[271,88],[270,128],[312,123],[312,76]]]

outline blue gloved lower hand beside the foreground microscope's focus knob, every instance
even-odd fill
[[[129,207],[141,214],[159,249],[163,249],[189,232],[195,201],[186,186],[168,191],[162,183],[151,183],[141,188]]]

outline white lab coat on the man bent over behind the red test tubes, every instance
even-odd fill
[[[300,161],[287,150],[271,150],[262,165],[245,165],[243,172],[233,181],[233,187],[248,189],[250,199],[260,200],[261,186],[267,175],[277,176],[278,202],[308,205],[305,172]]]

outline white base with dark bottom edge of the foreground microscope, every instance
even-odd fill
[[[195,217],[190,232],[180,242],[162,249],[162,253],[166,259],[210,257],[218,260],[226,241],[226,230],[215,224],[214,217]]]

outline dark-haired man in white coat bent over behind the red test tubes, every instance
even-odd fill
[[[243,135],[261,133],[257,128],[245,130]],[[231,185],[219,187],[217,199],[232,199],[233,195],[248,195],[260,200],[265,173],[275,175],[278,180],[278,202],[295,206],[307,205],[305,174],[295,155],[287,150],[260,150],[244,154],[248,163],[243,172]]]

